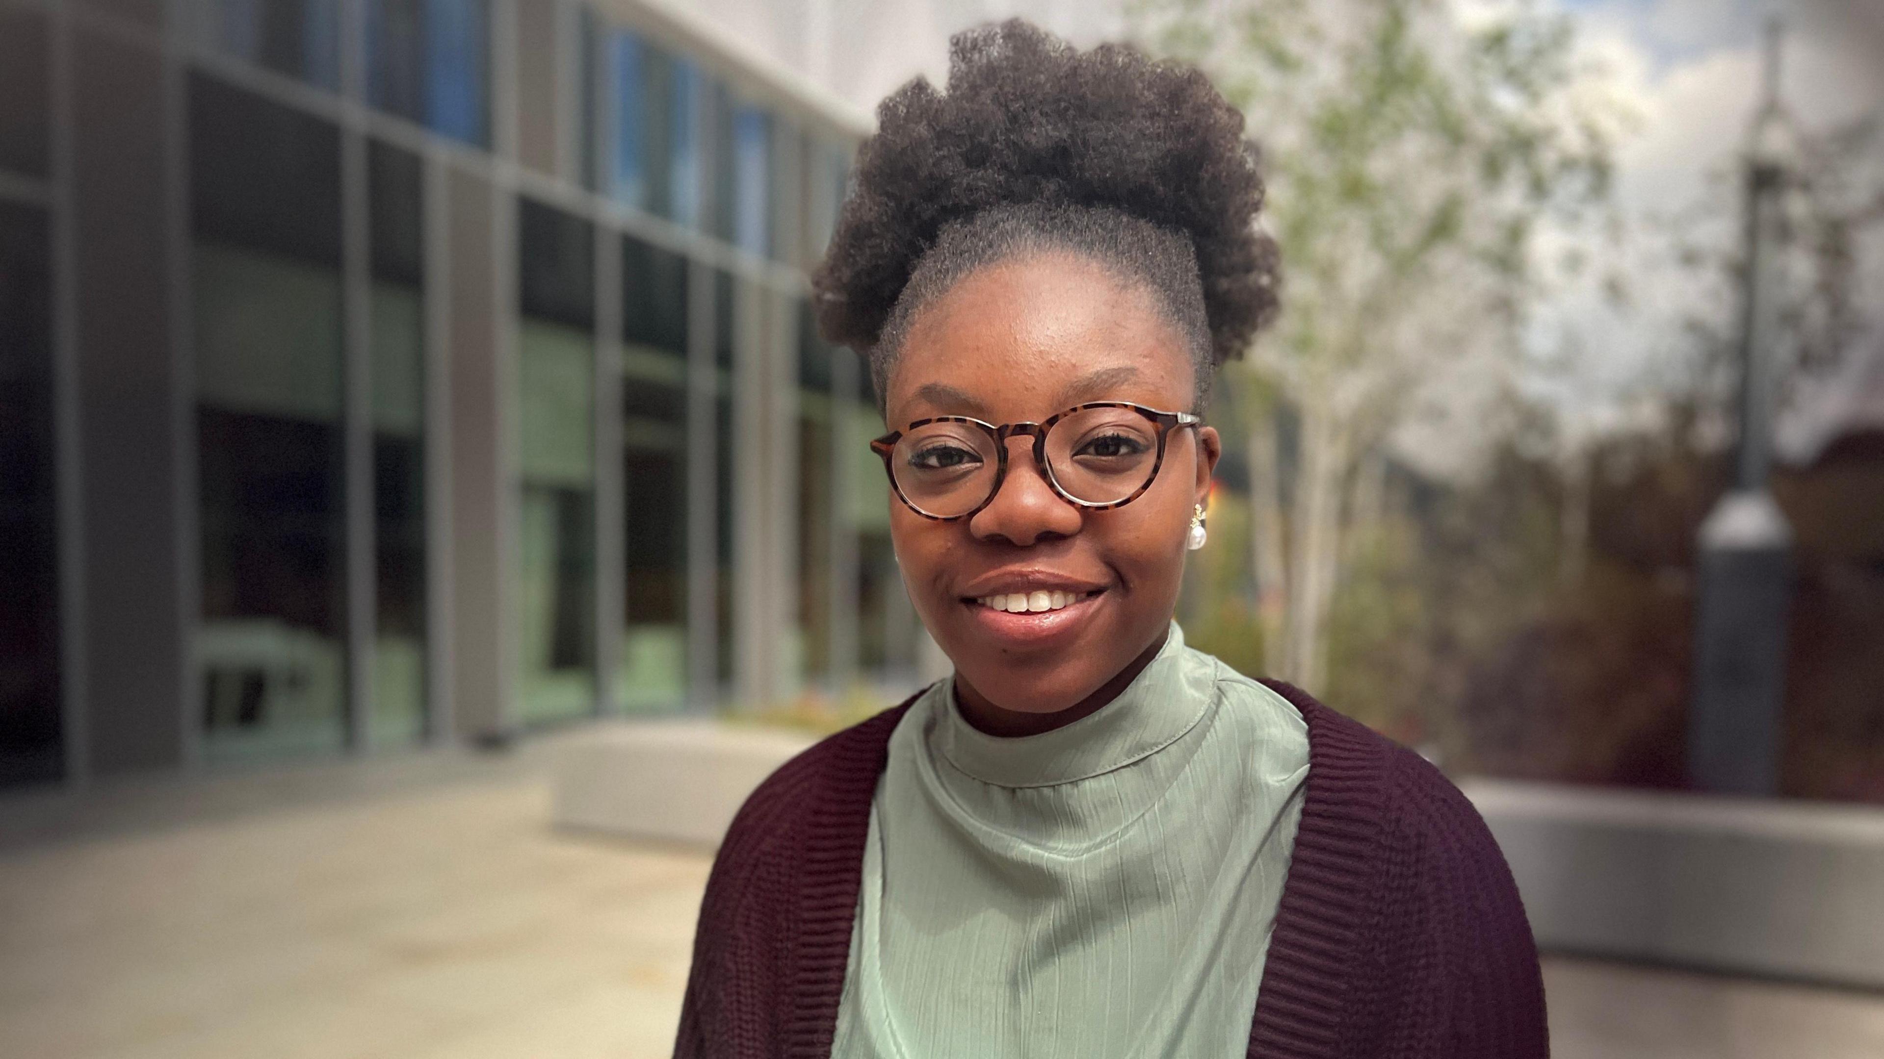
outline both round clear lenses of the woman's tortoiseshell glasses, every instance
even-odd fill
[[[1053,422],[1048,473],[1083,503],[1117,503],[1151,481],[1159,428],[1130,409],[1081,409]],[[891,452],[897,488],[938,518],[966,514],[993,494],[995,437],[968,422],[933,422],[904,433]]]

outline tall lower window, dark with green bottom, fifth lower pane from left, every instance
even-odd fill
[[[625,592],[614,688],[625,710],[688,688],[688,262],[622,239]]]

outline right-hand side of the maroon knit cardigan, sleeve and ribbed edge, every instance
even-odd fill
[[[1421,756],[1272,688],[1309,724],[1309,778],[1249,1055],[1549,1055],[1530,923],[1479,812]]]

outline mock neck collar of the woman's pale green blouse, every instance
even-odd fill
[[[933,748],[963,774],[1002,788],[1070,784],[1123,769],[1178,742],[1210,707],[1210,695],[1187,693],[1183,652],[1183,629],[1172,622],[1164,646],[1115,699],[1040,735],[976,729],[961,716],[950,675],[934,703]]]

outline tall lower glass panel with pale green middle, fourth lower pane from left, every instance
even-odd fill
[[[588,222],[524,200],[518,710],[595,710],[595,271]]]

